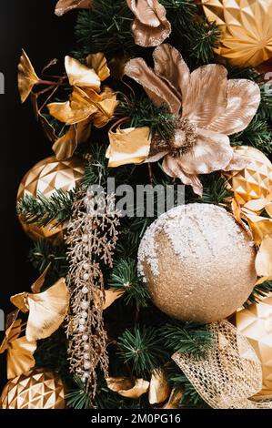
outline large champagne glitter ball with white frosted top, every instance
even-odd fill
[[[254,288],[256,250],[225,209],[188,204],[146,230],[139,276],[158,309],[180,321],[208,323],[237,311]]]

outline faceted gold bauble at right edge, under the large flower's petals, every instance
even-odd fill
[[[250,162],[241,171],[223,173],[237,202],[243,206],[252,199],[265,199],[272,190],[272,164],[257,148],[237,146],[237,155]]]

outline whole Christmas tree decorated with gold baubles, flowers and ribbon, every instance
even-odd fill
[[[18,190],[39,278],[11,298],[4,408],[271,407],[272,3],[235,4],[59,0],[76,51],[23,51],[52,150]],[[55,400],[20,401],[26,378]]]

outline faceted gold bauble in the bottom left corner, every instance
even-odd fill
[[[2,409],[65,409],[65,386],[55,372],[35,369],[7,382]]]

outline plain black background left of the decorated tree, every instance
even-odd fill
[[[36,272],[27,261],[31,241],[15,213],[20,180],[29,168],[51,156],[51,144],[35,121],[30,101],[21,105],[17,91],[17,64],[21,49],[31,58],[37,74],[53,58],[63,61],[76,45],[76,14],[54,14],[56,0],[1,2],[0,72],[5,75],[5,95],[0,95],[0,309],[13,310],[9,298],[29,290]],[[5,382],[5,358],[0,359],[0,383]]]

